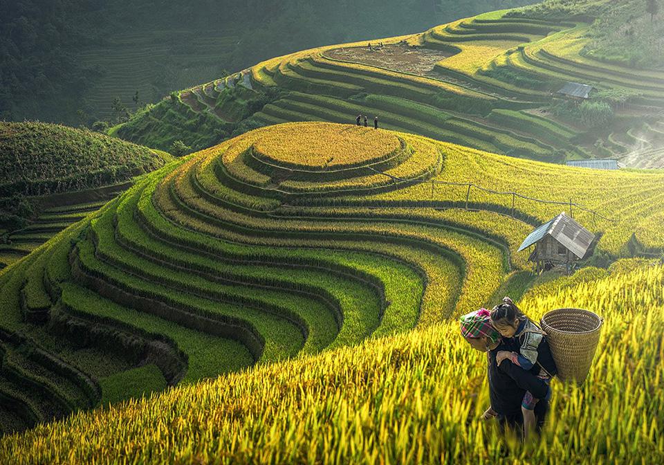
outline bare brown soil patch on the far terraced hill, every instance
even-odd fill
[[[451,57],[454,53],[432,48],[413,48],[407,44],[380,46],[372,43],[363,47],[343,47],[326,51],[324,56],[333,60],[356,62],[369,66],[380,66],[400,73],[429,75],[436,63]]]

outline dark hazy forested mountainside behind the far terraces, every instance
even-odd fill
[[[109,116],[115,98],[136,108],[275,55],[526,3],[533,0],[0,0],[0,119],[91,125]],[[100,89],[121,81],[117,91]]]

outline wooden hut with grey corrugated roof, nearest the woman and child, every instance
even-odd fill
[[[535,262],[538,273],[556,265],[569,271],[569,265],[586,255],[594,239],[593,233],[562,212],[530,233],[519,252],[535,245],[528,260]]]

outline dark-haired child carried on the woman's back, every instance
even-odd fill
[[[546,384],[551,383],[551,376],[555,376],[557,369],[551,349],[544,331],[525,316],[515,305],[512,299],[506,297],[501,304],[493,307],[491,311],[492,325],[504,338],[519,338],[519,353],[498,352],[496,362],[498,365],[505,359],[509,359],[515,365],[526,371],[537,370],[537,376]],[[537,366],[536,366],[537,365]],[[547,400],[551,397],[551,388],[548,390]],[[533,394],[526,392],[521,407],[524,414],[524,435],[526,438],[535,429],[535,405],[540,399],[535,399]]]

